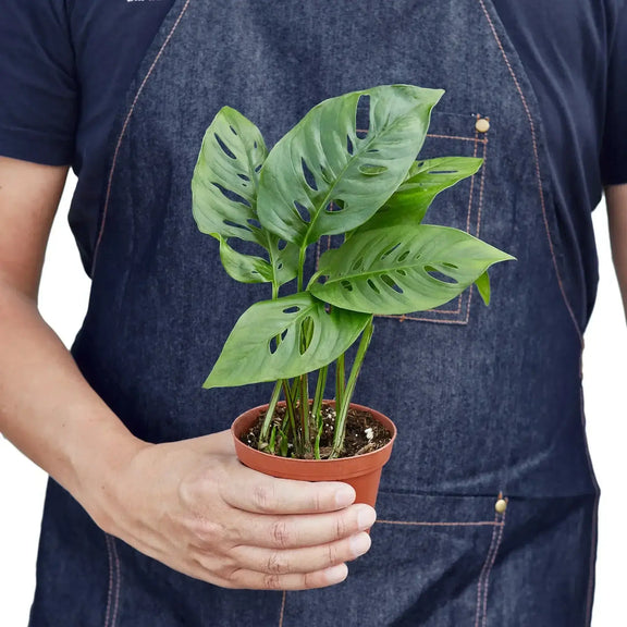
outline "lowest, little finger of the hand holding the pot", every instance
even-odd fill
[[[340,583],[346,579],[347,575],[348,567],[346,564],[339,564],[317,573],[290,575],[241,569],[232,573],[229,579],[224,579],[219,585],[223,588],[251,590],[312,590],[314,588],[325,588]]]

